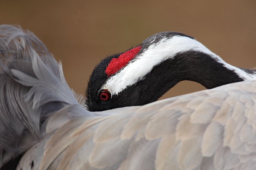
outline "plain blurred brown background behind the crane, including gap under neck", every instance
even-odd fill
[[[101,59],[160,31],[193,36],[232,65],[256,66],[256,0],[1,0],[0,24],[33,31],[80,94]],[[164,98],[201,89],[186,81]]]

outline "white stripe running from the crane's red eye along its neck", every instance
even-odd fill
[[[212,53],[212,51],[197,40],[178,35],[170,38],[163,38],[159,42],[151,44],[145,51],[138,54],[134,60],[129,62],[121,71],[110,77],[102,86],[102,89],[108,89],[112,95],[118,94],[127,86],[133,85],[143,79],[155,65],[158,65],[167,59],[172,59],[177,53],[189,50],[209,54],[217,62],[222,63],[227,69],[236,72],[236,74],[243,79],[256,79],[256,75],[248,74],[245,71],[224,62],[221,57]]]

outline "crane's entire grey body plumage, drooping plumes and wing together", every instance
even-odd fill
[[[255,81],[92,113],[35,35],[0,38],[0,167],[19,153],[18,170],[256,167]]]

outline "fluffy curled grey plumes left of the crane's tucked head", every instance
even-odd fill
[[[38,141],[41,124],[66,104],[78,103],[61,64],[41,40],[21,28],[0,26],[0,167]],[[20,144],[25,138],[29,142]]]

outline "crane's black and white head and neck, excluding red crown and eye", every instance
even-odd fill
[[[115,74],[107,77],[105,69],[112,58],[104,59],[93,71],[87,88],[90,111],[102,111],[156,101],[182,80],[199,82],[214,88],[231,82],[256,79],[246,71],[224,62],[203,44],[185,34],[162,32],[143,41],[140,52]],[[93,89],[93,90],[92,90]],[[95,99],[97,92],[108,89],[111,99]]]

